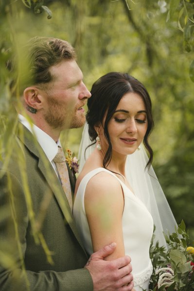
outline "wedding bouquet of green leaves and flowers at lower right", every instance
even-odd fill
[[[189,232],[182,221],[176,231],[165,235],[168,249],[150,246],[153,274],[149,291],[193,291],[194,290],[194,247],[190,246]]]

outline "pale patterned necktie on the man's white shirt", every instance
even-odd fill
[[[63,152],[63,149],[58,146],[58,153],[53,158],[53,161],[56,164],[57,171],[60,176],[61,185],[63,187],[63,190],[66,194],[66,197],[68,199],[71,211],[72,211],[72,196],[71,196],[71,185],[70,185],[70,178],[68,173],[68,168],[66,164],[66,158],[65,154]]]

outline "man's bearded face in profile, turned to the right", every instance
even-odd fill
[[[54,81],[46,93],[44,119],[57,129],[81,127],[85,122],[83,106],[91,96],[83,83],[83,74],[75,60],[53,66]]]

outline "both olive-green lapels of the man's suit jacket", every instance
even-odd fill
[[[56,173],[55,173],[50,161],[48,160],[46,154],[44,153],[44,151],[40,147],[36,138],[32,135],[32,133],[25,126],[23,126],[23,131],[24,131],[24,140],[23,141],[21,140],[21,142],[23,142],[24,145],[28,148],[28,150],[38,158],[38,168],[42,172],[48,185],[52,189],[53,194],[58,202],[59,207],[61,208],[61,211],[62,211],[67,223],[70,225],[74,236],[76,237],[76,239],[78,240],[78,242],[80,243],[80,245],[82,246],[82,248],[84,250],[82,241],[80,240],[80,237],[79,237],[79,234],[77,231],[75,221],[72,217],[71,208],[70,208],[70,205],[68,203],[67,197],[64,193],[64,190],[63,190],[63,188],[62,188],[62,186],[61,186],[61,184],[56,176]],[[20,139],[20,137],[19,137],[19,139]],[[71,177],[72,173],[71,173],[71,170],[69,169],[69,167],[68,167],[68,171],[69,171],[70,181],[71,181],[71,185],[72,185],[71,187],[74,189],[75,182],[73,181],[73,177]]]

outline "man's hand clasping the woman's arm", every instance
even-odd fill
[[[116,248],[113,242],[89,258],[85,268],[93,280],[94,291],[132,291],[133,275],[130,257],[120,257],[112,261],[104,260]]]

